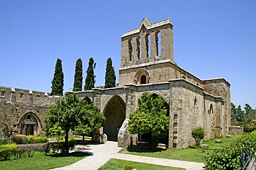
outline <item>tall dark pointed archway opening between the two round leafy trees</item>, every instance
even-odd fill
[[[118,141],[118,127],[122,126],[125,120],[125,102],[120,96],[113,96],[103,111],[106,123],[103,125],[103,133],[107,134],[107,139]]]

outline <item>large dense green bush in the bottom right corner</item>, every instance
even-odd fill
[[[256,135],[244,135],[238,138],[231,145],[224,145],[223,149],[215,149],[213,153],[208,153],[206,160],[206,170],[215,169],[240,169],[240,156],[243,148],[249,148],[250,153],[256,152]]]

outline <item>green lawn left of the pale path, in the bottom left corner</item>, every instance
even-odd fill
[[[43,169],[53,169],[57,167],[64,167],[69,164],[73,164],[78,160],[82,160],[88,156],[86,153],[74,152],[70,153],[69,156],[64,156],[62,154],[48,153],[45,156],[42,152],[35,152],[35,155],[31,158],[21,158],[17,160],[6,160],[0,161],[0,169],[5,170],[43,170]]]

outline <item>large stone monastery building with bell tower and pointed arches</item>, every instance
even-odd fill
[[[182,149],[193,145],[191,131],[195,127],[203,127],[205,139],[228,133],[230,83],[224,78],[201,80],[174,63],[170,19],[152,23],[144,18],[139,28],[121,36],[121,43],[118,87],[76,92],[80,98],[91,100],[107,118],[97,131],[99,138],[107,135],[108,140],[118,141],[119,147],[136,144],[138,135],[129,134],[127,124],[144,92],[161,96],[166,101],[170,128],[153,136],[169,148]],[[66,92],[68,94],[73,92]],[[26,112],[24,109],[23,115],[19,114],[21,117],[16,116],[19,117],[16,125],[20,133],[25,131],[21,122],[28,123],[28,120],[23,120],[28,113],[33,113],[37,127],[43,126],[38,111]],[[0,114],[3,115],[1,108]],[[142,138],[147,138],[147,134]]]

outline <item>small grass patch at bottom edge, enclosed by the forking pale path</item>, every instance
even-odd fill
[[[174,168],[174,167],[165,167],[161,165],[156,164],[145,164],[140,162],[131,162],[128,160],[118,160],[118,159],[110,159],[106,164],[104,164],[100,169],[98,170],[112,170],[112,169],[118,169],[122,170],[125,169],[126,166],[132,167],[131,169],[165,169],[165,170],[179,170],[182,168]]]

